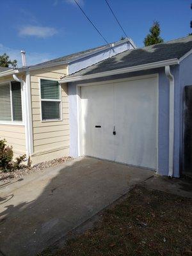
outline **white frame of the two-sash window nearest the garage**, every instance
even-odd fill
[[[59,90],[60,90],[60,99],[42,99],[42,94],[41,94],[41,80],[50,80],[50,81],[58,81],[57,79],[53,78],[47,78],[47,77],[39,77],[38,83],[39,83],[39,90],[40,90],[40,115],[41,115],[41,122],[61,122],[63,121],[63,113],[62,113],[62,92],[61,92],[61,84],[59,83]],[[54,102],[60,102],[60,119],[47,119],[43,120],[42,118],[42,101],[54,101]]]

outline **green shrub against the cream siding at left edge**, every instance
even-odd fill
[[[13,170],[19,169],[20,163],[25,158],[26,155],[17,157],[14,162],[12,147],[6,145],[6,140],[0,140],[0,169],[3,172],[12,172]]]

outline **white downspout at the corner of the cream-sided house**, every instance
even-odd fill
[[[23,85],[23,95],[24,95],[24,125],[25,125],[25,134],[26,134],[26,157],[29,163],[30,156],[33,153],[33,140],[32,136],[32,127],[31,127],[31,93],[29,93],[29,73],[26,72],[26,82],[15,74],[13,74],[13,79]]]

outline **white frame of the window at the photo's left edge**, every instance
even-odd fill
[[[12,101],[12,81],[3,81],[1,84],[9,84],[10,85],[10,102],[11,102],[11,112],[12,112],[12,120],[11,121],[3,121],[0,120],[0,125],[20,125],[24,126],[24,100],[23,100],[23,86],[20,83],[20,93],[21,93],[21,104],[22,104],[22,121],[14,121],[13,120],[13,101]],[[0,86],[1,86],[0,84]]]

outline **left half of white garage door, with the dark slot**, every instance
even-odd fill
[[[113,86],[81,88],[81,108],[83,154],[114,161]]]

